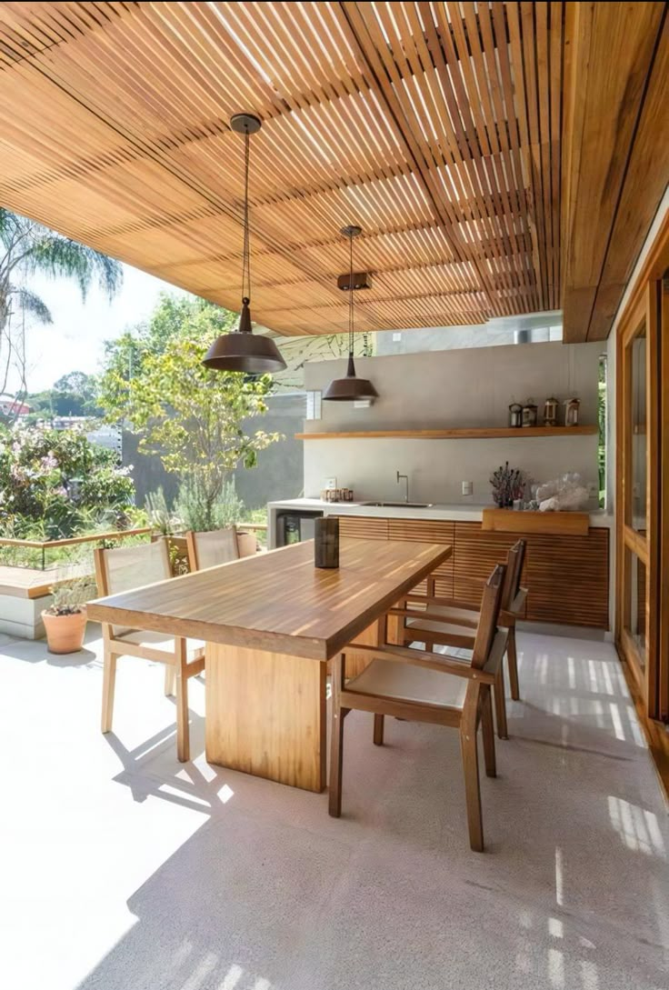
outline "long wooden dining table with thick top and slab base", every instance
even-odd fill
[[[321,791],[327,661],[376,644],[387,611],[451,551],[342,539],[325,570],[307,541],[97,599],[88,617],[204,640],[207,760]]]

